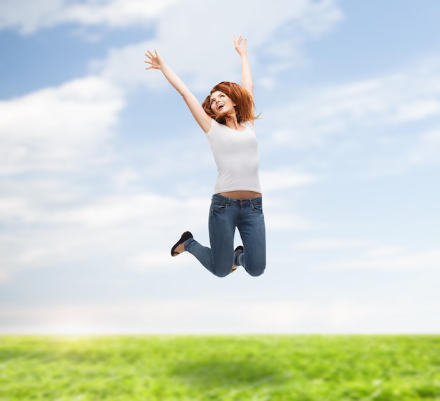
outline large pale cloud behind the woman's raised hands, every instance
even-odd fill
[[[242,18],[243,15],[249,17]],[[335,1],[328,0],[296,1],[289,7],[284,0],[258,7],[251,1],[226,0],[221,7],[215,3],[200,6],[198,0],[181,1],[167,8],[157,20],[154,40],[113,49],[108,60],[96,60],[92,68],[103,70],[105,77],[124,83],[164,87],[168,84],[160,72],[145,73],[141,67],[145,51],[157,48],[193,91],[209,91],[219,81],[240,80],[240,59],[232,39],[233,34],[242,34],[249,38],[247,46],[252,65],[256,67],[259,58],[266,59],[267,74],[263,81],[272,85],[280,70],[302,62],[304,55],[300,47],[304,41],[318,32],[327,32],[341,18]],[[217,21],[221,21],[221,29]],[[283,29],[299,31],[295,35],[280,35]]]

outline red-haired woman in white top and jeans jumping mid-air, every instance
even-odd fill
[[[189,232],[172,247],[172,256],[193,254],[217,277],[242,266],[252,276],[266,268],[266,231],[259,183],[258,143],[254,132],[254,96],[246,39],[233,38],[241,58],[242,84],[221,82],[202,105],[160,54],[147,51],[146,70],[160,70],[178,91],[195,121],[205,132],[216,162],[218,177],[209,210],[209,242],[202,246]],[[243,246],[233,249],[235,228]]]

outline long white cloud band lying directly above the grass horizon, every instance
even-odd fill
[[[3,305],[0,322],[8,321],[1,324],[2,333],[32,334],[427,334],[439,331],[439,320],[433,318],[438,314],[438,305],[399,302],[196,298],[86,306]]]

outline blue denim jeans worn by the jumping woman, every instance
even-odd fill
[[[244,251],[237,251],[234,260],[235,227],[240,232]],[[212,195],[209,242],[211,248],[190,238],[185,242],[185,250],[212,274],[225,277],[234,264],[243,266],[252,276],[262,275],[266,268],[266,229],[261,197],[231,199]]]

